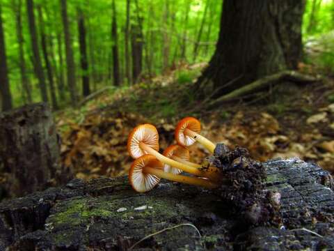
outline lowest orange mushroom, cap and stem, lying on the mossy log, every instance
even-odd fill
[[[159,183],[160,178],[169,181],[199,185],[204,188],[216,188],[218,185],[205,178],[183,176],[164,172],[164,164],[153,155],[145,154],[137,158],[129,169],[129,183],[137,192],[148,192]]]

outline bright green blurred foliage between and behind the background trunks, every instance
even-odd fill
[[[132,83],[125,79],[125,24],[126,1],[116,0],[116,20],[118,31],[118,55],[120,60],[120,73],[124,89]],[[22,80],[19,71],[19,43],[17,40],[18,0],[1,0],[3,12],[3,28],[6,39],[6,56],[8,61],[10,89],[13,94],[14,105],[24,105],[26,97],[22,89]],[[40,40],[40,24],[38,22],[37,6],[42,7],[45,20],[45,33],[47,36],[48,52],[56,84],[56,96],[61,106],[67,107],[70,103],[65,79],[65,98],[61,99],[58,92],[59,75],[61,70],[65,77],[65,46],[63,41],[63,24],[61,21],[60,1],[33,0],[35,4],[35,22]],[[154,76],[168,72],[179,64],[192,64],[209,61],[215,50],[218,38],[219,19],[221,16],[221,2],[214,0],[138,0],[130,1],[130,25],[141,24],[143,33],[143,70],[142,76]],[[112,46],[116,41],[111,37],[112,1],[109,0],[67,0],[68,20],[70,20],[70,33],[74,50],[74,61],[77,73],[78,96],[81,96],[81,75],[85,74],[80,66],[79,34],[77,26],[77,8],[84,12],[86,25],[86,43],[88,52],[88,75],[90,89],[97,91],[113,83],[112,79]],[[198,31],[205,10],[208,5],[207,16],[204,19],[202,34]],[[22,0],[22,33],[24,40],[24,61],[26,73],[32,89],[33,102],[40,101],[38,81],[33,72],[31,40],[27,22],[26,1]],[[140,21],[141,20],[141,21]],[[187,20],[187,21],[186,21]],[[305,61],[321,68],[325,73],[334,71],[334,1],[308,0],[303,17],[303,42],[305,45]],[[59,45],[60,38],[61,44]],[[184,39],[185,38],[185,39]],[[129,45],[131,45],[131,40]],[[196,61],[193,60],[193,51],[196,43],[210,42],[208,45],[199,45]],[[184,43],[184,44],[183,44]],[[39,41],[40,45],[40,41]],[[182,54],[182,48],[185,53]],[[41,50],[41,48],[40,48]],[[130,46],[130,56],[132,47]],[[42,53],[40,53],[42,55]],[[61,66],[61,56],[63,65]],[[42,56],[41,56],[42,57]],[[132,56],[131,56],[132,58]],[[131,62],[130,62],[131,63]],[[167,65],[166,65],[167,63]],[[45,61],[42,59],[43,68]],[[130,69],[131,70],[131,69]],[[200,73],[198,70],[177,71],[177,83],[190,84]],[[46,76],[46,72],[45,72]],[[150,83],[143,81],[141,89],[150,90]],[[184,95],[193,100],[193,93]],[[49,91],[48,91],[49,93]],[[81,97],[82,98],[82,97]],[[136,97],[133,97],[134,99]],[[168,102],[167,102],[167,105]],[[103,104],[101,104],[103,107]],[[149,106],[149,105],[148,105]],[[173,107],[166,108],[173,111]]]

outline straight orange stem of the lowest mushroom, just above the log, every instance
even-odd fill
[[[196,178],[196,177],[171,174],[168,172],[164,172],[161,169],[157,169],[153,167],[144,167],[143,172],[155,175],[159,178],[166,178],[168,181],[176,181],[179,183],[185,183],[189,185],[200,185],[203,188],[209,188],[209,189],[218,187],[216,183],[212,183],[211,181],[204,179],[204,178]]]

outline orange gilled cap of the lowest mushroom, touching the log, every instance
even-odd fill
[[[129,169],[129,183],[137,192],[148,192],[160,181],[159,177],[143,172],[144,167],[163,169],[164,165],[150,154],[134,160]]]

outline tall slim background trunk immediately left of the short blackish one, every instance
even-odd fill
[[[67,64],[67,84],[70,89],[71,103],[75,107],[77,104],[77,88],[75,82],[75,65],[72,50],[72,40],[70,34],[70,26],[67,20],[67,3],[66,0],[61,1],[61,17],[63,20],[64,36],[65,36],[65,51]]]

